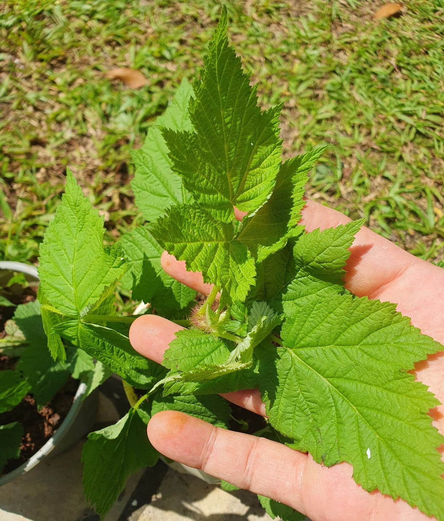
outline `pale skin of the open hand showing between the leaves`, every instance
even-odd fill
[[[241,216],[239,216],[241,218]],[[335,210],[307,201],[301,224],[307,231],[344,224],[350,219]],[[412,324],[444,343],[444,269],[401,250],[376,233],[362,228],[350,248],[346,287],[355,295],[367,295],[397,303]],[[208,294],[211,286],[200,273],[186,271],[166,252],[164,270],[187,286]],[[162,363],[164,351],[182,327],[156,315],[135,320],[130,330],[134,349]],[[416,365],[416,378],[444,402],[444,351]],[[265,415],[257,390],[224,395],[233,403]],[[444,406],[430,415],[444,434]],[[327,468],[310,455],[285,445],[231,432],[186,414],[156,414],[147,428],[155,448],[165,456],[199,468],[233,485],[292,506],[313,521],[425,521],[430,519],[402,500],[393,501],[378,491],[366,492],[352,478],[352,467],[340,463]],[[444,452],[444,445],[440,448]]]

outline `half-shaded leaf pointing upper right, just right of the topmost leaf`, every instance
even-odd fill
[[[307,172],[325,149],[316,148],[283,163],[269,200],[253,216],[242,220],[238,240],[248,246],[257,262],[284,247],[289,237],[302,233],[303,228],[296,225],[305,204],[302,197]]]

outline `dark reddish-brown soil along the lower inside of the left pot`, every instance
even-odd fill
[[[5,367],[0,366],[0,369]],[[70,378],[51,402],[44,405],[40,411],[37,411],[32,395],[27,394],[12,411],[0,414],[0,425],[20,421],[24,430],[20,458],[9,460],[3,469],[3,474],[8,474],[29,460],[52,437],[68,414],[78,387],[78,380]]]

